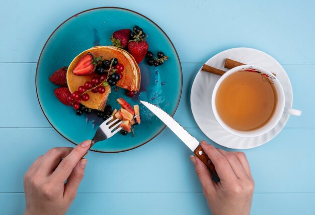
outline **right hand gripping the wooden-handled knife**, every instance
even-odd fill
[[[207,166],[196,156],[190,157],[211,213],[250,214],[254,179],[246,155],[243,152],[216,149],[205,141],[201,141],[201,146],[220,178],[220,182],[215,183]]]

